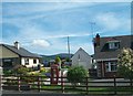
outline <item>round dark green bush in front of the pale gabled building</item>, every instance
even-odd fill
[[[68,81],[75,85],[80,82],[85,81],[84,78],[88,76],[88,72],[82,66],[72,66],[68,71]]]

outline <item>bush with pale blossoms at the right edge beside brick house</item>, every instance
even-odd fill
[[[133,50],[122,50],[119,55],[117,72],[125,78],[133,78]]]

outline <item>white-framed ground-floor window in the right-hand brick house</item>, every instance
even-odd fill
[[[115,72],[116,71],[116,62],[106,62],[105,71],[106,72]]]

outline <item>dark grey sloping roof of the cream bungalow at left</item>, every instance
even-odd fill
[[[4,46],[4,47],[7,47],[8,50],[14,52],[16,54],[18,54],[18,55],[20,55],[20,56],[23,56],[23,57],[40,57],[39,55],[33,54],[33,53],[27,51],[27,50],[23,49],[23,47],[20,47],[20,49],[18,50],[18,49],[17,49],[16,46],[13,46],[13,45],[0,44],[0,46],[1,46],[1,45]]]

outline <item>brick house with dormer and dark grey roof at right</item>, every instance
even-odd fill
[[[94,60],[99,77],[117,76],[117,55],[123,47],[133,49],[133,35],[104,36],[94,39]]]

